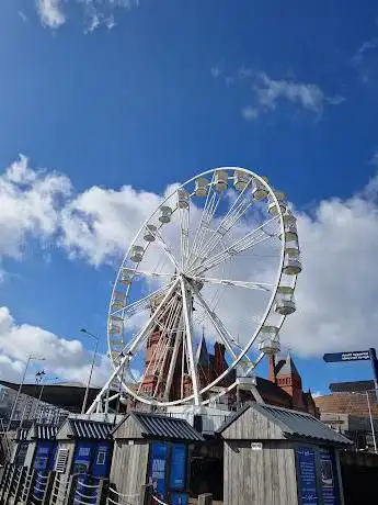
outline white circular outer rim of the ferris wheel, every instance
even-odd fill
[[[259,181],[265,189],[267,189],[268,191],[268,197],[272,201],[272,203],[274,202],[276,207],[277,207],[277,220],[279,222],[279,232],[280,232],[280,236],[282,236],[282,246],[280,246],[280,255],[279,255],[279,263],[277,266],[277,270],[278,270],[278,273],[275,278],[275,282],[274,282],[274,288],[272,289],[272,292],[271,292],[271,296],[266,303],[266,308],[265,308],[265,312],[263,313],[263,315],[261,316],[260,318],[260,322],[257,323],[256,325],[256,328],[255,330],[253,332],[252,336],[249,338],[249,340],[247,340],[245,345],[243,345],[242,349],[241,349],[241,352],[238,355],[237,358],[232,359],[232,362],[230,364],[228,364],[228,368],[227,370],[225,370],[219,377],[217,377],[214,381],[211,381],[209,384],[207,384],[205,388],[202,388],[199,389],[199,399],[201,399],[201,404],[204,405],[206,403],[208,403],[207,400],[203,400],[202,396],[204,395],[204,393],[207,393],[209,390],[211,390],[211,388],[214,388],[215,385],[217,385],[224,378],[226,378],[233,369],[236,369],[236,367],[240,363],[240,361],[245,357],[245,355],[250,351],[250,349],[252,348],[253,344],[255,343],[255,340],[257,339],[259,337],[259,334],[261,333],[261,329],[262,327],[264,326],[266,319],[268,318],[268,315],[270,315],[270,312],[272,310],[272,306],[274,304],[274,301],[275,301],[275,298],[277,295],[277,291],[278,291],[278,288],[279,288],[279,283],[280,283],[280,279],[282,279],[282,276],[283,276],[283,267],[284,267],[284,260],[285,260],[285,249],[286,249],[286,236],[285,236],[285,226],[284,226],[284,218],[283,218],[283,210],[280,207],[280,204],[278,202],[278,199],[275,194],[275,191],[274,189],[271,187],[271,184],[264,180],[263,177],[259,176],[256,172],[254,172],[253,170],[250,170],[248,168],[243,168],[243,167],[217,167],[217,168],[211,168],[211,169],[207,169],[196,176],[194,176],[193,178],[188,179],[187,181],[185,181],[184,183],[181,183],[179,184],[172,192],[170,192],[170,194],[168,194],[161,202],[160,204],[157,206],[157,209],[147,217],[147,220],[142,223],[142,225],[140,226],[140,228],[138,229],[138,232],[135,234],[133,240],[130,242],[130,245],[129,247],[127,248],[127,251],[126,254],[124,255],[124,258],[122,260],[122,263],[121,263],[121,267],[118,268],[118,271],[117,271],[117,276],[116,276],[116,280],[115,280],[115,283],[114,283],[114,287],[113,287],[113,290],[112,290],[112,298],[111,298],[111,303],[110,303],[110,310],[108,310],[108,318],[111,317],[111,306],[112,306],[112,300],[113,300],[113,296],[114,296],[114,291],[116,290],[116,285],[119,281],[119,276],[122,273],[122,270],[123,268],[125,268],[125,262],[127,261],[128,257],[129,257],[129,254],[133,249],[133,247],[136,245],[137,240],[138,240],[138,237],[140,237],[142,231],[146,228],[146,226],[151,222],[151,220],[153,217],[156,217],[156,215],[159,213],[159,210],[164,206],[164,204],[170,201],[170,199],[172,199],[179,190],[181,189],[184,189],[185,187],[187,187],[188,184],[193,183],[194,181],[196,181],[198,178],[201,177],[205,177],[205,176],[208,176],[208,175],[213,175],[213,177],[215,176],[215,173],[217,171],[220,171],[220,170],[227,170],[227,171],[239,171],[239,172],[244,172],[247,175],[249,175],[251,178],[255,179],[256,181]],[[209,183],[210,186],[210,183]],[[193,194],[193,193],[192,193]],[[192,244],[193,246],[193,244]],[[149,244],[146,246],[146,250],[147,248],[149,247]],[[135,272],[137,271],[137,267],[135,269]],[[297,276],[294,276],[294,283],[293,283],[293,287],[295,288],[295,283],[296,283],[296,279],[297,279]],[[280,321],[279,321],[279,326],[278,326],[278,329],[283,326],[284,322],[286,319],[286,315],[283,315]],[[110,356],[111,356],[111,361],[112,361],[112,366],[113,368],[116,368],[117,366],[117,362],[116,362],[116,358],[113,358],[113,349],[112,349],[112,341],[111,341],[111,334],[107,333],[107,345],[108,345],[108,351],[110,351]],[[193,343],[192,343],[192,347],[193,347]],[[256,361],[256,363],[254,366],[252,366],[250,368],[250,370],[254,369],[256,367],[256,364],[259,363],[259,359]],[[174,405],[180,405],[180,404],[184,404],[184,403],[188,403],[193,400],[195,400],[195,394],[191,394],[191,395],[187,395],[185,397],[181,397],[179,400],[173,400],[173,401],[160,401],[160,400],[156,400],[156,399],[152,399],[152,397],[144,397],[142,395],[140,395],[139,393],[136,393],[135,391],[133,391],[133,389],[130,389],[128,386],[128,384],[122,380],[122,378],[119,378],[119,375],[117,374],[117,378],[118,378],[118,381],[121,383],[121,390],[124,390],[126,391],[127,393],[129,393],[131,396],[134,396],[136,400],[142,402],[142,403],[146,403],[146,404],[150,404],[150,405],[157,405],[157,406],[174,406]]]

